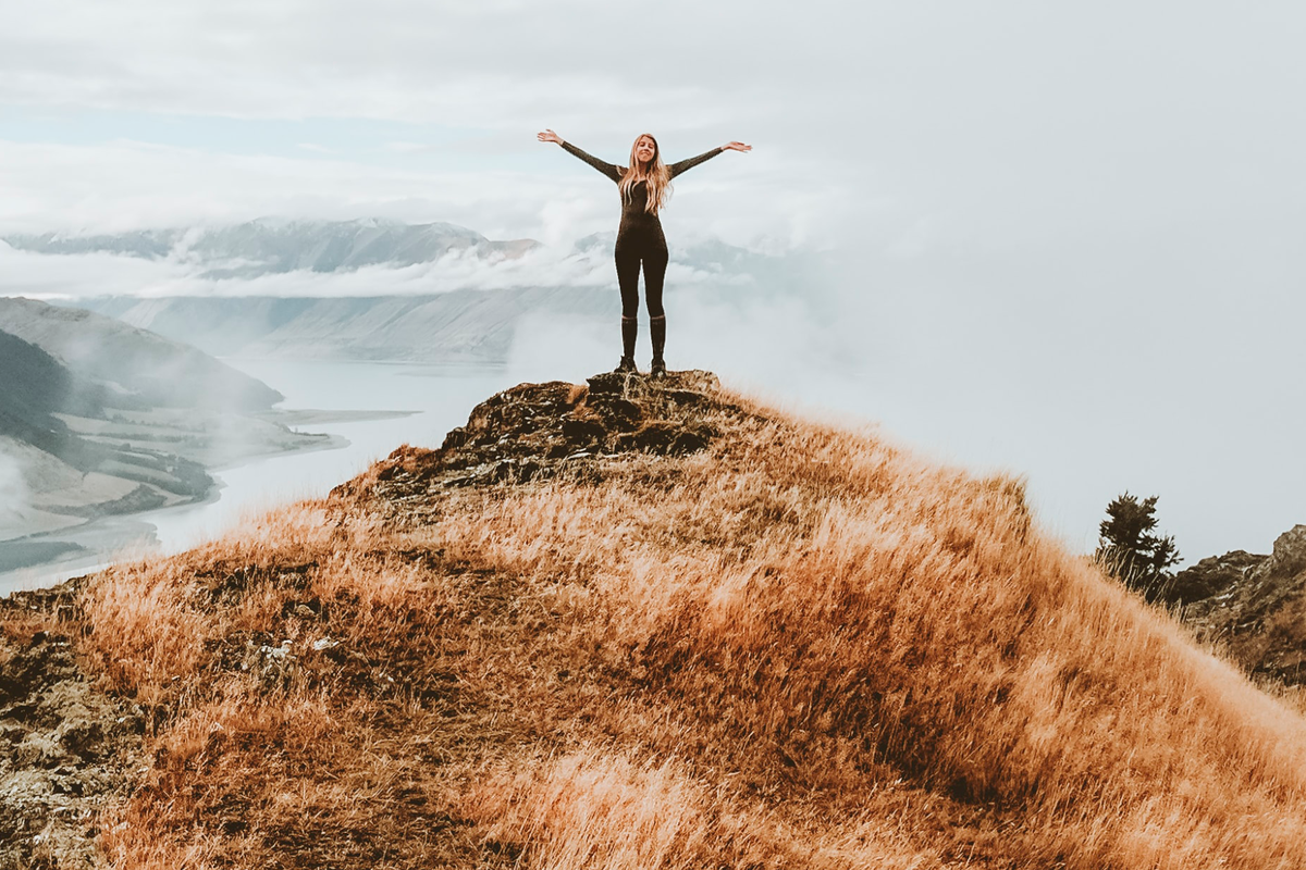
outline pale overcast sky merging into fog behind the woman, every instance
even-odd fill
[[[1028,475],[1075,545],[1124,489],[1160,496],[1186,557],[1268,552],[1306,522],[1299,4],[47,0],[7,18],[0,233],[381,217],[565,247],[611,231],[616,202],[538,130],[611,162],[641,132],[671,159],[741,140],[754,151],[678,181],[673,247],[836,267],[726,340],[724,314],[673,295],[684,347]],[[0,292],[59,269],[145,280],[0,254]]]

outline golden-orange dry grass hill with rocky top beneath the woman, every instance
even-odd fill
[[[1306,866],[1306,721],[1019,481],[712,381],[522,385],[84,583],[47,627],[148,759],[108,861]]]

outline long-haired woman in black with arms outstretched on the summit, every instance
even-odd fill
[[[662,279],[666,277],[666,237],[657,213],[671,194],[671,179],[722,151],[751,151],[751,145],[727,142],[699,157],[670,166],[662,163],[657,140],[644,133],[631,146],[631,164],[624,170],[592,157],[552,130],[537,137],[558,142],[592,167],[616,181],[622,192],[622,224],[616,231],[616,283],[622,288],[622,361],[618,372],[635,372],[635,338],[639,335],[640,263],[644,263],[644,296],[653,338],[652,373],[666,372],[662,348],[666,344],[666,312],[662,310]]]

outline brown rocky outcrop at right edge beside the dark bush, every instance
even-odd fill
[[[1280,535],[1269,556],[1202,560],[1175,575],[1165,600],[1250,673],[1286,686],[1306,680],[1306,526]]]

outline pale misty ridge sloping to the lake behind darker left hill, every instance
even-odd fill
[[[119,408],[265,410],[283,398],[225,363],[112,317],[0,297],[0,330],[57,357],[81,381],[104,385]]]

